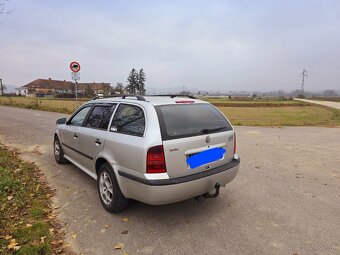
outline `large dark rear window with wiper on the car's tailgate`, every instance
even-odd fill
[[[163,140],[232,130],[229,121],[211,104],[156,106]]]

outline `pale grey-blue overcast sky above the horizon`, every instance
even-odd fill
[[[2,1],[2,0],[0,0]],[[0,16],[0,78],[126,82],[148,87],[340,89],[340,1],[10,0]]]

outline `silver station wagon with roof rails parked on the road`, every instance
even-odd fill
[[[97,180],[110,212],[129,199],[161,205],[216,197],[240,164],[227,118],[210,103],[175,95],[91,100],[57,120],[54,155]]]

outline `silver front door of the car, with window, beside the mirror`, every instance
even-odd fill
[[[66,156],[79,161],[79,128],[83,125],[91,109],[91,105],[80,108],[60,130],[60,140]]]

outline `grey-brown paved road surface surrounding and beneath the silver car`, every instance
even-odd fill
[[[54,161],[53,129],[63,116],[0,107],[0,139],[20,148],[56,188],[54,203],[77,253],[123,254],[113,247],[124,243],[130,255],[340,254],[339,128],[236,127],[240,172],[218,198],[133,201],[110,214],[93,179]]]

